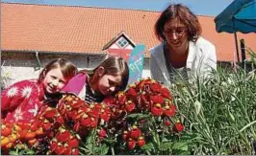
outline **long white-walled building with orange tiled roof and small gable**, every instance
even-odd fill
[[[149,73],[148,49],[160,42],[154,34],[159,11],[120,10],[1,3],[2,75],[13,82],[37,78],[51,59],[70,59],[79,69],[93,68],[106,56],[124,56],[137,44],[146,46],[143,77]],[[234,60],[232,33],[217,33],[214,17],[198,16],[202,36],[216,45],[218,62]],[[255,33],[238,33],[256,52]],[[246,56],[248,57],[248,56]]]

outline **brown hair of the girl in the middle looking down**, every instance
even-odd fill
[[[91,77],[91,82],[95,83],[99,80],[96,75],[98,68],[104,68],[104,75],[121,76],[122,84],[119,90],[124,90],[129,80],[129,68],[126,61],[122,57],[110,56],[93,70],[82,70],[79,73],[87,73]]]

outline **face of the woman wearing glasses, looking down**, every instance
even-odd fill
[[[188,44],[188,34],[185,25],[177,19],[172,19],[166,22],[164,26],[164,34],[168,46],[172,49],[184,48]]]

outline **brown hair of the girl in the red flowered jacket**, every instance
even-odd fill
[[[70,62],[67,59],[64,58],[58,58],[55,59],[53,61],[51,61],[50,63],[48,63],[43,70],[41,71],[41,73],[39,74],[38,77],[38,83],[42,82],[43,79],[45,78],[46,74],[56,68],[60,68],[64,78],[69,80],[70,78],[74,77],[77,74],[77,67]]]

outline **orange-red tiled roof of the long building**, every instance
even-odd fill
[[[147,50],[160,43],[154,35],[158,11],[8,3],[1,3],[1,11],[2,50],[97,54],[121,31]],[[214,17],[198,18],[202,36],[217,47],[218,60],[233,60],[234,34],[217,33]],[[238,33],[238,37],[256,52],[255,33]]]

